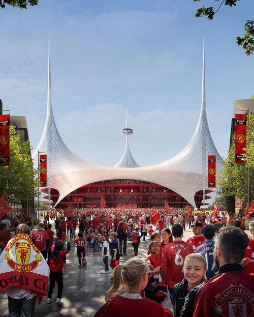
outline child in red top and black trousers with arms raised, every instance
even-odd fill
[[[70,238],[66,235],[67,241],[67,249],[62,250],[63,248],[63,241],[57,240],[55,245],[51,247],[51,258],[49,263],[49,290],[48,290],[48,299],[47,304],[52,303],[52,294],[53,289],[55,287],[55,281],[57,283],[58,291],[57,291],[57,298],[56,303],[58,305],[62,305],[61,296],[63,290],[63,279],[62,279],[62,269],[63,269],[63,257],[69,253],[71,250]]]

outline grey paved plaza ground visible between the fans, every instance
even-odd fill
[[[52,223],[52,222],[51,222]],[[53,224],[53,223],[52,223]],[[76,230],[76,234],[77,234]],[[246,232],[249,234],[249,232]],[[192,231],[186,228],[183,240],[187,240],[192,235]],[[71,240],[72,243],[73,240]],[[147,242],[142,241],[139,246],[139,255],[147,257]],[[134,256],[132,242],[127,244],[127,254],[121,256],[120,263]],[[53,303],[47,304],[44,297],[40,305],[36,304],[36,317],[93,317],[94,313],[105,303],[105,294],[111,286],[112,274],[101,274],[104,270],[101,251],[86,253],[87,266],[78,268],[76,248],[72,245],[70,253],[67,255],[67,264],[63,271],[63,294],[61,301],[63,306],[55,303],[57,285],[54,288]],[[111,269],[110,269],[111,272]],[[169,303],[168,305],[169,306]],[[6,293],[0,293],[0,316],[9,316],[8,299]]]

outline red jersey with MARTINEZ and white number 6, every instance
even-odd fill
[[[193,246],[184,241],[171,242],[163,248],[162,280],[173,289],[184,277],[182,268],[186,255],[194,253]]]

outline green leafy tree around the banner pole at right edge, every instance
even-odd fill
[[[228,157],[225,159],[224,166],[218,174],[218,185],[220,186],[222,196],[228,197],[234,195],[239,198],[247,198],[249,185],[248,203],[250,204],[254,198],[254,113],[249,114],[248,124],[249,147],[247,155],[244,157],[246,163],[235,163],[235,135],[233,135]],[[247,168],[249,168],[249,183]]]

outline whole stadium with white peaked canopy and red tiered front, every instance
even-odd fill
[[[205,50],[203,50],[202,103],[195,133],[182,152],[166,162],[139,166],[132,157],[126,133],[125,150],[114,167],[88,162],[75,155],[63,142],[54,121],[51,104],[50,51],[48,63],[47,117],[44,131],[33,154],[47,153],[47,188],[52,205],[66,208],[99,207],[104,196],[107,207],[200,207],[211,197],[208,187],[208,155],[216,155],[217,170],[221,157],[213,143],[206,115]],[[126,127],[123,130],[131,130]],[[35,163],[36,164],[36,163]],[[213,188],[216,190],[216,188]],[[45,196],[48,198],[48,196]]]

